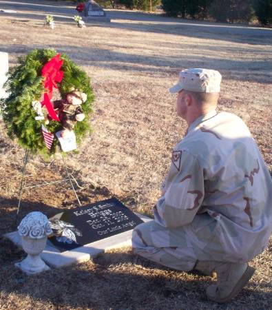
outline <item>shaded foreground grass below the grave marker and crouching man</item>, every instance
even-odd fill
[[[52,304],[56,309],[267,309],[264,300],[269,293],[258,291],[269,289],[265,282],[256,287],[250,284],[250,289],[220,306],[205,296],[211,278],[161,267],[131,251],[105,254],[93,262],[30,277],[14,267],[23,257],[22,251],[3,238],[0,245],[8,250],[7,258],[1,258],[1,302],[10,302],[12,293],[17,298],[30,297],[32,307],[42,303],[43,309]],[[254,308],[254,301],[260,307]]]

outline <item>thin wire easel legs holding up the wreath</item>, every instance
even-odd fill
[[[82,207],[81,202],[79,200],[79,196],[76,194],[76,189],[74,188],[72,181],[74,181],[74,183],[76,184],[77,187],[79,187],[81,189],[83,189],[83,187],[81,187],[79,185],[79,183],[77,183],[74,176],[68,172],[67,165],[66,165],[65,159],[63,157],[63,154],[61,154],[61,156],[63,159],[63,166],[65,167],[65,172],[66,172],[65,178],[62,178],[61,180],[51,181],[51,182],[46,182],[45,180],[43,180],[43,183],[41,183],[41,184],[25,186],[25,170],[26,170],[26,165],[28,163],[28,159],[29,159],[29,150],[28,149],[25,150],[25,156],[23,158],[21,185],[20,185],[20,189],[19,189],[19,201],[18,201],[17,214],[16,214],[16,225],[18,224],[17,221],[18,221],[19,211],[20,211],[20,207],[21,207],[21,197],[23,195],[24,189],[31,189],[34,187],[42,187],[42,186],[47,186],[47,185],[52,185],[52,184],[57,184],[57,183],[69,182],[73,191],[74,191],[74,196],[76,196],[76,200],[79,204],[79,207]]]

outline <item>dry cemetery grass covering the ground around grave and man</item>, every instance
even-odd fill
[[[94,131],[78,154],[66,157],[83,187],[78,189],[83,205],[116,196],[151,216],[171,147],[186,129],[176,116],[176,97],[167,92],[183,68],[222,73],[219,110],[243,118],[272,172],[272,30],[114,10],[107,11],[112,23],[79,29],[71,19],[59,19],[55,30],[49,30],[42,15],[22,10],[0,15],[0,51],[9,53],[10,66],[33,48],[55,48],[92,78]],[[272,309],[272,242],[250,262],[256,271],[249,285],[226,305],[207,300],[205,287],[211,278],[160,267],[135,256],[129,247],[25,276],[14,267],[23,251],[3,237],[16,229],[24,150],[6,136],[3,121],[0,152],[0,309]],[[26,180],[49,182],[61,175],[60,158],[46,162],[33,156]],[[30,211],[50,217],[77,206],[64,183],[25,191],[22,199],[20,219]]]

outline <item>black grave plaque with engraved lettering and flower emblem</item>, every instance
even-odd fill
[[[50,223],[54,232],[50,242],[63,252],[129,231],[143,220],[110,198],[56,214]]]

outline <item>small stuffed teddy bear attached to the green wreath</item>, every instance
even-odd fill
[[[65,99],[53,102],[54,110],[59,116],[63,132],[61,136],[65,138],[68,132],[74,129],[76,122],[81,122],[85,118],[81,104],[87,100],[87,95],[79,90],[73,90],[65,95]]]

